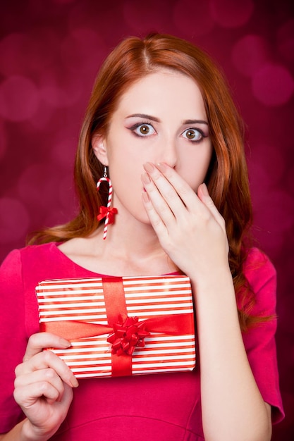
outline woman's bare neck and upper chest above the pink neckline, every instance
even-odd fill
[[[61,251],[78,265],[107,275],[156,275],[178,271],[162,249],[151,225],[134,218],[117,219],[87,238],[76,238],[61,245]]]

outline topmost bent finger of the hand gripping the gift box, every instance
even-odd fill
[[[68,340],[51,333],[37,333],[30,336],[23,361],[27,361],[47,347],[66,349],[71,346]]]

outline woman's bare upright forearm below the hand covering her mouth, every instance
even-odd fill
[[[192,285],[205,440],[270,440],[271,422],[247,360],[231,273],[214,270]]]

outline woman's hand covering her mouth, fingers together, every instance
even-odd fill
[[[197,194],[164,163],[144,165],[143,202],[161,247],[190,278],[211,277],[212,268],[228,270],[225,222],[205,184]]]

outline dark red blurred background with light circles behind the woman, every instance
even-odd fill
[[[273,440],[293,441],[293,1],[2,1],[0,260],[27,232],[73,216],[73,156],[94,77],[118,41],[150,30],[209,51],[245,119],[255,235],[278,271],[286,419]]]

